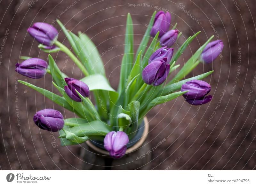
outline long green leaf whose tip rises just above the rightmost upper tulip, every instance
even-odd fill
[[[210,39],[207,42],[205,42],[204,45],[201,46],[191,58],[188,59],[188,61],[180,69],[178,74],[168,84],[172,84],[175,81],[180,81],[181,79],[186,77],[186,75],[188,75],[200,63],[197,59],[200,57],[205,46],[212,40],[213,37],[214,35],[212,35],[212,37],[210,37]]]

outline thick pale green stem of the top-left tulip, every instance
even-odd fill
[[[64,44],[60,43],[59,41],[55,41],[55,43],[62,52],[65,52],[74,62],[75,64],[81,69],[85,76],[90,75],[88,71],[85,69],[84,65],[77,59],[77,57],[66,47]]]

